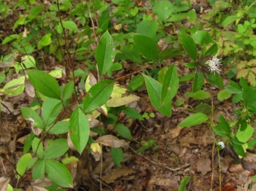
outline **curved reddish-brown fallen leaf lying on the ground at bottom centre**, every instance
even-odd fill
[[[102,177],[102,180],[106,183],[115,182],[117,178],[120,178],[122,176],[127,176],[134,173],[134,170],[124,167],[124,168],[117,168],[111,170],[109,173],[106,173],[105,176]]]

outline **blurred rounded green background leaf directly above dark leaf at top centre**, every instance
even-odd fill
[[[157,21],[153,20],[142,20],[137,26],[138,34],[147,36],[151,39],[154,39],[157,33]]]

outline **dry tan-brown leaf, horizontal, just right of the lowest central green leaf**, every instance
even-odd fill
[[[104,146],[109,146],[109,147],[114,147],[114,148],[118,148],[118,147],[128,148],[129,147],[129,145],[127,144],[127,142],[125,142],[125,140],[120,140],[113,135],[101,136],[97,140],[95,140],[95,142],[98,142],[99,144],[102,144]]]

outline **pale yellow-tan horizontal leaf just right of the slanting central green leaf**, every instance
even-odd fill
[[[135,96],[134,94],[130,94],[129,96],[125,96],[122,98],[112,98],[108,102],[106,102],[106,107],[119,107],[122,105],[130,104],[136,101],[139,101],[140,97]]]

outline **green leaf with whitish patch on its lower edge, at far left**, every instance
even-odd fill
[[[34,127],[45,129],[44,122],[42,122],[41,117],[35,110],[29,107],[22,107],[22,115],[25,120],[31,121]]]

